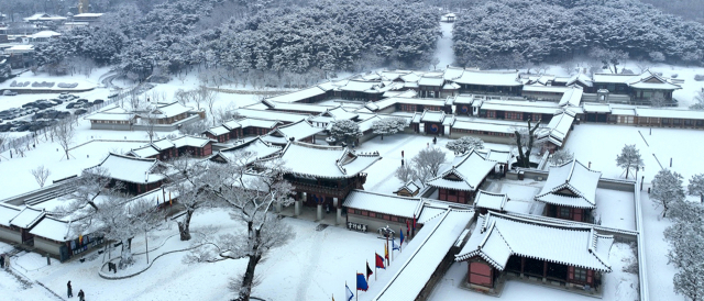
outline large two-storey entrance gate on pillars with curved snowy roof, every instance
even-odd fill
[[[353,189],[364,189],[364,169],[382,157],[378,153],[362,154],[340,146],[321,146],[289,142],[280,159],[289,171],[286,179],[296,187],[296,214],[301,203],[308,207],[338,208],[341,219],[342,201]]]

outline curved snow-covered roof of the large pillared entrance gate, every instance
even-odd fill
[[[280,158],[290,172],[320,178],[352,178],[382,159],[378,153],[358,154],[346,147],[301,142],[289,142]]]

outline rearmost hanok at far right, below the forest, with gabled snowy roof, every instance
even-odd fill
[[[676,107],[676,100],[672,98],[674,90],[682,89],[672,80],[650,70],[640,75],[624,74],[595,74],[594,89],[607,90],[607,93],[627,94],[632,104],[650,104],[653,98],[661,97],[662,105]],[[608,102],[605,99],[605,102]]]

